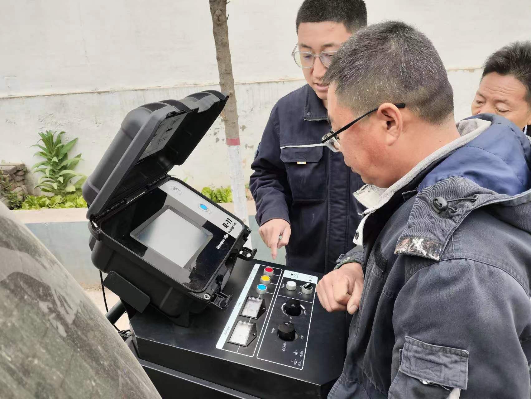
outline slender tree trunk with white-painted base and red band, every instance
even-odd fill
[[[229,28],[227,25],[227,0],[209,0],[212,15],[212,32],[216,44],[216,60],[218,61],[219,84],[221,91],[229,96],[221,119],[225,123],[225,141],[227,143],[230,167],[230,185],[233,193],[234,211],[237,217],[249,226],[245,183],[243,179],[242,155],[239,151],[239,126],[234,77],[230,61]],[[252,248],[251,239],[247,245]]]

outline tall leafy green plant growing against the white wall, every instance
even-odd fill
[[[35,155],[45,159],[31,167],[33,172],[44,173],[44,176],[39,178],[35,188],[38,187],[42,191],[53,193],[56,196],[65,196],[74,192],[81,194],[81,186],[87,177],[73,171],[81,160],[81,154],[74,158],[68,158],[68,151],[72,149],[78,139],[75,138],[64,144],[61,141],[61,136],[65,132],[57,134],[57,137],[55,137],[55,133],[57,132],[50,130],[47,130],[46,133],[39,132],[39,141],[42,141],[44,147],[39,144],[32,146],[39,147],[41,151],[37,151]],[[71,180],[75,177],[80,177],[80,179],[72,183]]]

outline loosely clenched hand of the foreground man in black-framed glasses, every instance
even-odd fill
[[[357,262],[346,263],[326,274],[315,288],[321,305],[327,312],[346,310],[351,315],[358,310],[363,290],[363,269]]]

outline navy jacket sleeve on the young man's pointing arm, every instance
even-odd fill
[[[286,167],[280,159],[278,111],[275,106],[265,125],[262,140],[251,168],[249,188],[256,202],[256,222],[261,226],[271,219],[289,223],[288,203],[292,201]]]

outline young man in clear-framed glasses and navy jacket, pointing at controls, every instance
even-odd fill
[[[273,107],[250,181],[262,240],[273,259],[287,245],[287,265],[323,273],[352,247],[363,210],[352,193],[362,181],[341,154],[323,151],[330,125],[322,78],[341,43],[366,24],[362,0],[305,0],[297,13],[292,56],[308,84]]]

